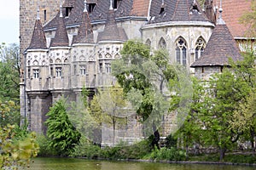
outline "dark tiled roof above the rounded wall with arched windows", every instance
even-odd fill
[[[197,1],[194,0],[152,0],[150,23],[166,21],[208,21]]]

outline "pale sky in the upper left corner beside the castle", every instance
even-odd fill
[[[0,0],[0,43],[19,43],[20,1]]]

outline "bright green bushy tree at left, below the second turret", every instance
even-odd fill
[[[67,156],[73,151],[81,136],[67,116],[66,105],[65,99],[56,101],[46,114],[48,119],[45,122],[50,145],[58,150],[61,156]]]

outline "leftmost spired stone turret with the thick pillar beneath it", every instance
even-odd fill
[[[33,27],[32,40],[25,53],[25,86],[26,89],[21,89],[20,93],[24,97],[21,102],[24,105],[24,110],[20,111],[22,118],[28,120],[30,128],[37,133],[44,133],[46,120],[45,114],[49,111],[51,98],[48,92],[48,48],[46,47],[46,39],[44,29],[38,16]],[[21,103],[20,102],[20,103]],[[26,106],[26,107],[25,107]]]

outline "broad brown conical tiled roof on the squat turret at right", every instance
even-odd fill
[[[229,65],[229,58],[235,61],[242,59],[235,39],[222,20],[212,31],[212,36],[201,58],[195,61],[191,67]]]

